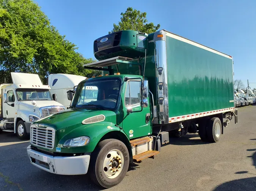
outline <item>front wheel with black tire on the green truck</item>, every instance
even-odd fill
[[[121,162],[116,157],[121,158]],[[123,142],[117,139],[101,141],[91,154],[89,165],[91,180],[103,188],[118,185],[126,176],[129,160],[129,151]]]

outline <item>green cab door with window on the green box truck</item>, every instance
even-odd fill
[[[128,80],[123,87],[124,131],[130,139],[151,134],[150,106],[141,111],[141,80]]]

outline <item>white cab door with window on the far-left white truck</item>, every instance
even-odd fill
[[[7,93],[7,103],[4,103],[5,108],[3,108],[3,111],[5,113],[5,118],[14,118],[15,117],[15,112],[16,112],[16,107],[14,106],[15,102],[15,95],[14,95],[14,90],[13,89],[6,89]]]

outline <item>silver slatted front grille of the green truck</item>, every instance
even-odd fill
[[[30,143],[43,148],[53,149],[55,139],[55,129],[51,127],[39,128],[30,126]]]

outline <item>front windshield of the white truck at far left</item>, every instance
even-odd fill
[[[49,89],[16,89],[19,101],[52,100]]]

